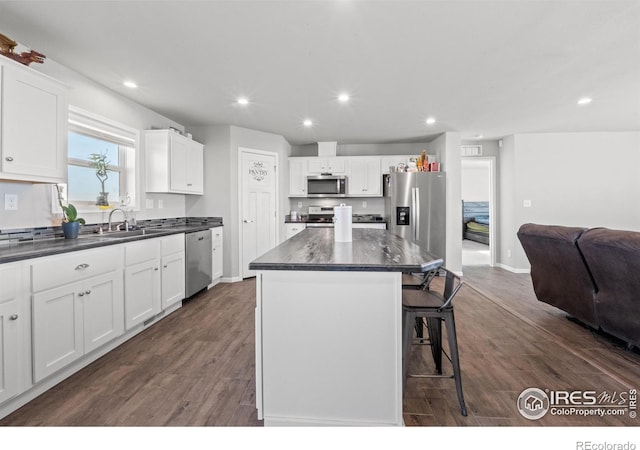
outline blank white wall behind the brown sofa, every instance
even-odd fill
[[[640,230],[640,132],[517,134],[509,141],[501,155],[503,165],[508,155],[504,170],[512,170],[501,179],[501,192],[512,192],[502,210],[501,243],[505,253],[513,249],[507,265],[529,268],[516,237],[523,223]]]

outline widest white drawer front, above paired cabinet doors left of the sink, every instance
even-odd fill
[[[31,265],[33,292],[117,270],[122,267],[122,248],[112,245],[36,261]]]

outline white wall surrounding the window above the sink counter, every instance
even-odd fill
[[[124,98],[53,60],[47,59],[42,65],[34,64],[30,67],[68,85],[70,105],[139,130],[169,126],[182,129],[180,124]],[[139,203],[141,209],[136,213],[136,218],[183,217],[185,215],[185,196],[144,193],[144,148],[141,148],[140,165],[142,192]],[[96,186],[96,192],[98,190],[98,186]],[[51,212],[51,185],[0,181],[0,198],[4,198],[4,194],[17,194],[19,209],[17,211],[2,209],[0,229],[59,225],[61,216]],[[154,208],[146,208],[147,198],[153,200]],[[157,208],[158,200],[163,201],[163,209]],[[81,214],[87,223],[106,222],[107,215],[108,212]]]

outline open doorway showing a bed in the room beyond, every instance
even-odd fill
[[[462,266],[495,266],[495,157],[463,158]]]

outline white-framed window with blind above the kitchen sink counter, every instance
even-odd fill
[[[137,209],[139,132],[109,119],[69,108],[67,201],[81,211]],[[97,177],[92,155],[104,155],[106,177]],[[104,182],[104,189],[103,189]],[[101,199],[108,193],[108,206]]]

